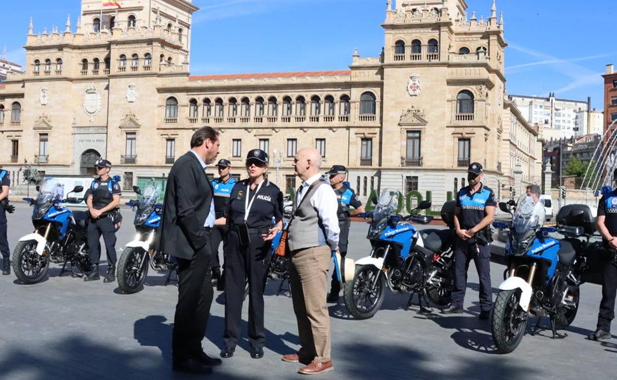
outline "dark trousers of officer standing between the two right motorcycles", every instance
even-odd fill
[[[479,251],[479,252],[478,252]],[[457,236],[454,250],[455,281],[452,292],[452,305],[463,307],[467,288],[467,270],[473,259],[480,278],[480,310],[489,311],[493,305],[491,286],[491,249],[488,244],[481,245],[472,239],[464,241]]]

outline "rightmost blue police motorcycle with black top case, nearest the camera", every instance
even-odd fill
[[[499,208],[511,213],[505,203],[500,203]],[[580,267],[594,227],[590,225],[592,222],[586,228],[569,223],[585,213],[582,209],[570,211],[566,208],[560,211],[568,215],[558,215],[558,223],[563,224],[557,228],[542,227],[544,204],[523,196],[516,204],[511,222],[493,223],[494,227],[509,230],[505,247],[508,269],[504,273],[505,281],[499,285],[491,320],[493,341],[501,354],[518,347],[530,315],[539,317],[536,329],[540,317],[549,317],[553,338],[565,338],[557,329],[569,326],[576,317]],[[559,232],[565,238],[552,238],[549,235],[552,232]],[[580,240],[581,237],[586,241]]]

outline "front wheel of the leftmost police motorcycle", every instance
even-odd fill
[[[13,270],[26,285],[43,280],[49,269],[49,260],[36,252],[36,244],[36,240],[20,241],[13,251]]]

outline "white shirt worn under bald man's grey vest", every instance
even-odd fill
[[[296,205],[300,204],[300,200],[304,198],[304,194],[308,191],[310,185],[320,178],[321,174],[315,174],[315,176],[302,182],[300,192],[296,196]],[[317,210],[321,224],[323,224],[326,230],[326,236],[320,233],[319,245],[329,245],[333,251],[336,250],[339,246],[339,233],[341,233],[339,218],[336,215],[336,210],[339,208],[336,193],[334,193],[331,186],[321,185],[313,192],[313,196],[309,201],[310,205]]]

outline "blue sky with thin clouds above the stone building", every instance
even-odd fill
[[[122,0],[120,0],[122,2]],[[28,18],[35,33],[59,25],[67,14],[73,28],[79,0],[2,1],[0,49],[23,63]],[[383,46],[379,24],[385,0],[194,0],[191,73],[341,70]],[[27,7],[24,6],[27,4]],[[62,4],[60,6],[60,4]],[[491,0],[467,0],[476,16],[490,14]],[[609,25],[615,0],[497,0],[503,10],[507,89],[510,94],[586,99],[602,110],[605,65],[617,65]]]

